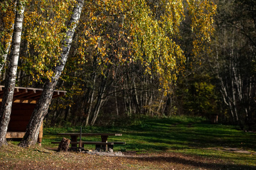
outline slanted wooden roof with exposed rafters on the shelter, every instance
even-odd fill
[[[5,86],[0,85],[0,102],[3,99],[3,91]],[[43,88],[15,87],[13,95],[13,103],[31,103],[35,104],[42,94]],[[67,91],[55,90],[52,98],[61,97]]]

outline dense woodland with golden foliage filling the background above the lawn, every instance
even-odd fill
[[[0,8],[1,84],[10,82],[22,16],[15,86],[67,91],[48,96],[48,114],[35,111],[48,126],[217,114],[256,128],[254,0],[9,0]]]

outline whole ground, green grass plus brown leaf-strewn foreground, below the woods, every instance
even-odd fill
[[[256,133],[236,126],[212,125],[203,118],[147,119],[126,127],[85,127],[82,133],[122,133],[108,141],[125,157],[56,152],[57,133],[77,133],[80,127],[44,128],[42,147],[0,148],[0,169],[256,169]],[[86,137],[83,141],[100,141]],[[95,146],[88,145],[93,150]],[[8,167],[7,167],[8,166]]]

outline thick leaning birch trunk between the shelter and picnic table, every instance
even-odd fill
[[[26,134],[24,135],[22,141],[19,143],[20,147],[28,147],[30,145],[35,145],[38,139],[40,125],[42,124],[43,119],[47,114],[49,104],[52,99],[53,90],[55,89],[57,81],[60,78],[61,72],[63,71],[65,63],[68,58],[69,49],[71,48],[71,42],[73,40],[75,29],[79,23],[83,4],[84,0],[77,0],[77,4],[73,8],[71,19],[69,20],[67,27],[67,37],[63,41],[63,45],[61,47],[62,52],[59,58],[60,62],[57,63],[57,66],[54,70],[55,76],[53,76],[51,80],[47,80],[46,84],[44,85],[42,95],[38,103],[36,103],[36,107],[30,118],[30,122],[28,122]]]

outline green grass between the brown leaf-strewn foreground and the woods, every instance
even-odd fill
[[[42,146],[57,148],[52,141],[60,141],[57,133],[78,133],[80,127],[44,128]],[[108,141],[125,141],[115,145],[114,151],[136,151],[137,154],[177,153],[220,159],[234,165],[233,169],[256,169],[256,133],[246,133],[236,126],[213,125],[199,117],[151,118],[140,124],[125,127],[83,127],[82,133],[122,133],[122,137],[109,137]],[[100,137],[83,137],[83,141],[100,141]],[[94,149],[94,146],[86,146]],[[243,154],[228,151],[238,148],[250,151]],[[221,167],[221,166],[220,166]],[[232,169],[232,168],[231,168]]]

